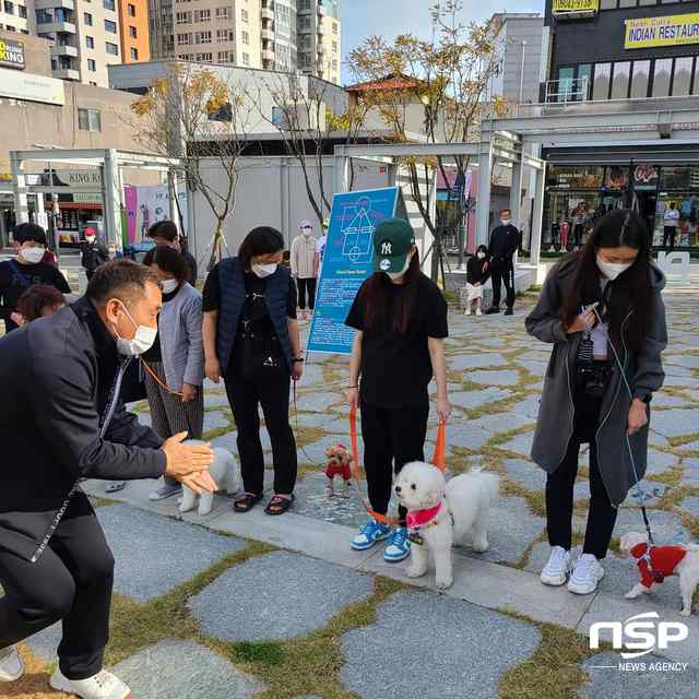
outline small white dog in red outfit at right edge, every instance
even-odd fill
[[[691,614],[691,599],[699,587],[699,545],[652,546],[649,549],[643,534],[629,532],[621,536],[620,548],[636,559],[641,573],[641,582],[626,593],[627,600],[633,600],[644,592],[650,592],[668,576],[678,576],[683,602],[679,614],[683,616]]]

